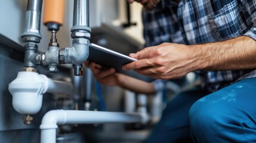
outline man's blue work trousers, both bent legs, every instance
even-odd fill
[[[196,88],[177,95],[147,142],[256,142],[256,78],[208,94]]]

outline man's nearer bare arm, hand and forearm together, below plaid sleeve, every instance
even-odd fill
[[[162,43],[130,54],[138,61],[122,68],[155,79],[175,79],[194,70],[255,69],[255,45],[247,36],[196,45]]]

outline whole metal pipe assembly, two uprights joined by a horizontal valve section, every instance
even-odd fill
[[[37,64],[47,66],[48,71],[58,71],[59,64],[73,64],[75,75],[82,75],[81,64],[87,60],[91,29],[89,26],[88,0],[75,0],[73,11],[73,27],[71,29],[72,48],[59,50],[57,46],[49,46],[47,52],[38,53],[36,43],[40,42],[40,19],[42,0],[29,0],[27,8],[26,28],[23,41],[25,44],[24,67],[35,68]]]

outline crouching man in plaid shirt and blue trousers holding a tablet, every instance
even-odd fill
[[[123,69],[166,80],[196,71],[203,79],[169,102],[148,141],[256,142],[256,1],[137,2],[153,10],[143,11],[149,47]],[[101,83],[133,89],[115,70],[87,65]]]

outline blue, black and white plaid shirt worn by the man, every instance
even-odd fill
[[[153,11],[143,10],[145,46],[163,42],[216,42],[237,36],[256,40],[256,1],[162,0]],[[241,47],[242,48],[242,47]],[[255,47],[256,48],[256,47]],[[198,71],[204,85],[215,91],[251,70]]]

